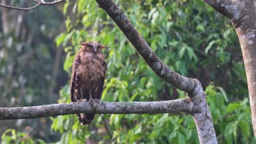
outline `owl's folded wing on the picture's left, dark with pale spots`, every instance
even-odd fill
[[[80,99],[80,75],[77,74],[78,65],[81,63],[80,56],[75,56],[73,65],[72,65],[72,77],[70,83],[70,99],[72,102],[76,102]]]

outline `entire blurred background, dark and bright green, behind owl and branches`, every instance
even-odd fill
[[[256,143],[240,44],[228,19],[200,0],[115,3],[164,63],[201,81],[219,143]],[[91,40],[109,45],[102,101],[185,97],[155,76],[95,1],[0,10],[1,107],[69,103],[78,41]],[[193,118],[185,113],[96,115],[89,127],[76,115],[4,120],[0,135],[2,143],[199,143]]]

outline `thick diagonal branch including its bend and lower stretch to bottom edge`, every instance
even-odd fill
[[[162,63],[147,44],[146,40],[144,40],[135,27],[132,26],[132,23],[127,18],[124,11],[112,0],[96,1],[99,7],[104,9],[113,21],[117,23],[117,26],[125,34],[126,38],[129,39],[139,55],[143,57],[144,61],[146,61],[154,73],[174,87],[187,92],[188,99],[191,103],[199,106],[200,112],[191,114],[196,124],[200,143],[218,143],[211,113],[206,103],[205,92],[202,89],[201,83],[196,79],[179,75]]]

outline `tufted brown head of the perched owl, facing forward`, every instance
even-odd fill
[[[79,43],[80,45],[83,45],[83,48],[85,49],[85,51],[92,52],[95,54],[97,52],[101,52],[101,50],[106,47],[105,45],[97,43],[96,41],[88,41],[88,42],[80,41]]]

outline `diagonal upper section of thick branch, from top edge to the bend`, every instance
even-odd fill
[[[165,65],[152,51],[146,40],[144,40],[135,27],[132,26],[132,23],[127,18],[124,11],[121,10],[113,1],[96,1],[98,5],[113,19],[113,21],[117,23],[118,27],[156,75],[174,87],[181,89],[190,95],[194,95],[199,91],[201,83],[196,79],[190,79],[188,77],[179,75]]]

